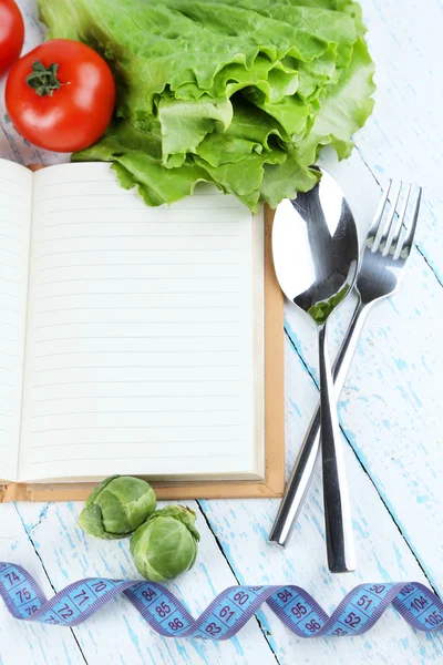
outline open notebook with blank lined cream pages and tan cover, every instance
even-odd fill
[[[264,248],[262,216],[210,186],[148,208],[107,164],[0,160],[1,482],[266,488]]]

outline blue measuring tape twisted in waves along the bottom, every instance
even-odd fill
[[[165,637],[229,640],[267,603],[299,637],[361,635],[392,603],[419,631],[443,627],[443,603],[420,582],[360,584],[328,616],[300,586],[231,586],[194,618],[164,586],[137,580],[89,577],[70,584],[50,601],[20,565],[0,563],[0,594],[16,617],[43,624],[76,626],[123,593],[154,631]]]

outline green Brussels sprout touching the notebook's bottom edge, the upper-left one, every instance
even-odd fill
[[[79,524],[96,538],[126,538],[143,524],[156,505],[155,492],[146,481],[111,475],[85,501]]]

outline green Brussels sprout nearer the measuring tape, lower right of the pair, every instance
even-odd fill
[[[167,505],[136,530],[131,554],[146,580],[165,582],[192,569],[199,540],[195,513],[184,505]]]

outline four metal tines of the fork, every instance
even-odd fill
[[[408,258],[415,235],[422,188],[389,181],[368,234],[371,252]]]

